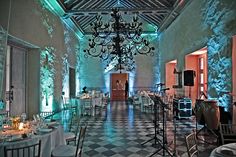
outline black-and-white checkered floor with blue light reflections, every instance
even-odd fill
[[[162,116],[160,116],[162,117]],[[154,156],[169,156],[174,148],[174,125],[172,120],[166,123],[165,148],[163,151],[163,123],[160,119],[157,140],[154,136],[153,113],[140,112],[131,103],[111,102],[103,113],[95,117],[87,116],[87,134],[84,142],[83,157],[143,157],[157,152]],[[194,117],[176,120],[176,153],[187,156],[184,135],[196,129]],[[200,128],[200,127],[199,127]],[[201,136],[200,138],[205,137]],[[143,144],[144,142],[149,142]],[[213,141],[213,138],[207,141]],[[200,143],[200,156],[209,156],[215,145]],[[160,150],[160,151],[158,151]]]

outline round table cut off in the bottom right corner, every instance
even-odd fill
[[[210,157],[235,157],[236,143],[229,143],[215,148]]]

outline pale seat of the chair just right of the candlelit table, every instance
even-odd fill
[[[71,145],[60,145],[52,150],[53,157],[74,157],[76,147]]]

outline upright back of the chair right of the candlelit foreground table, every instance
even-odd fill
[[[78,137],[77,145],[76,145],[75,157],[81,156],[82,154],[86,129],[87,129],[87,125],[84,127],[80,127],[79,137]]]

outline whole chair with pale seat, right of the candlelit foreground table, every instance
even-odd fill
[[[83,143],[86,133],[85,127],[80,127],[76,146],[60,145],[52,150],[52,157],[80,157],[82,155]]]

